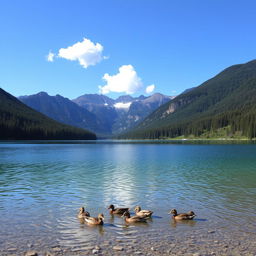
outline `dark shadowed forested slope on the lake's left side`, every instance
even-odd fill
[[[0,139],[96,139],[94,133],[56,122],[1,88],[0,131]]]

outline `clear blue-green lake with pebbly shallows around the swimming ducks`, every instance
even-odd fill
[[[255,255],[255,202],[255,144],[0,143],[1,255]],[[110,204],[153,218],[126,225]],[[104,226],[80,223],[81,206]]]

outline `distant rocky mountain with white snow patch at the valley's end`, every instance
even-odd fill
[[[124,95],[114,100],[105,95],[85,94],[73,102],[95,114],[104,124],[106,134],[113,135],[134,127],[171,98],[156,93],[149,97],[141,95],[137,98]]]

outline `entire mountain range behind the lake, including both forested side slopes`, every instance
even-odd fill
[[[228,67],[177,97],[85,94],[69,100],[40,92],[18,100],[0,89],[0,103],[1,139],[95,139],[93,132],[129,139],[252,139],[256,60]]]

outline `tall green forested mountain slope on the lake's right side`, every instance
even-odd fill
[[[231,66],[150,114],[122,138],[256,136],[256,60]]]

